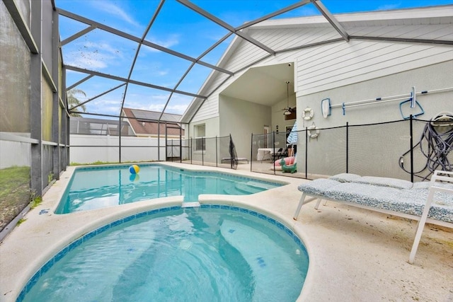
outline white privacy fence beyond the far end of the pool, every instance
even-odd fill
[[[120,150],[121,148],[121,150]],[[105,135],[70,135],[71,163],[165,161],[165,139]],[[121,154],[121,155],[120,155]]]

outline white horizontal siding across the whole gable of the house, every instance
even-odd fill
[[[423,14],[429,16],[430,13],[435,13],[435,10],[432,11],[424,11]],[[450,17],[427,18],[423,20],[425,25],[420,25],[417,17],[420,16],[389,21],[374,18],[372,13],[367,21],[354,21],[355,16],[348,16],[348,21],[343,21],[343,16],[338,16],[338,21],[351,36],[453,40]],[[292,21],[289,25],[279,25],[283,21],[273,21],[268,23],[273,25],[256,25],[246,30],[253,39],[275,51],[301,47],[275,56],[250,42],[236,38],[229,50],[231,52],[226,54],[226,57],[231,57],[222,62],[223,68],[235,72],[234,76],[205,100],[193,122],[219,117],[219,93],[238,79],[246,71],[243,69],[253,62],[258,62],[254,66],[294,62],[295,91],[299,97],[453,60],[452,45],[351,39],[349,42],[340,40],[304,47],[340,38],[331,25],[320,23],[315,18],[313,20],[313,23],[304,24]],[[207,86],[210,89],[217,88],[227,76],[214,74]]]

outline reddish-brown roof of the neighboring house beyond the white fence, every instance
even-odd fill
[[[177,123],[181,115],[164,113],[161,122],[158,123],[157,121],[162,112],[132,108],[122,108],[122,111],[137,137],[156,136],[158,134],[164,136],[166,133],[171,137],[179,137],[180,134],[184,135],[184,129],[180,130],[180,124]],[[167,122],[162,122],[162,120],[166,120]]]

